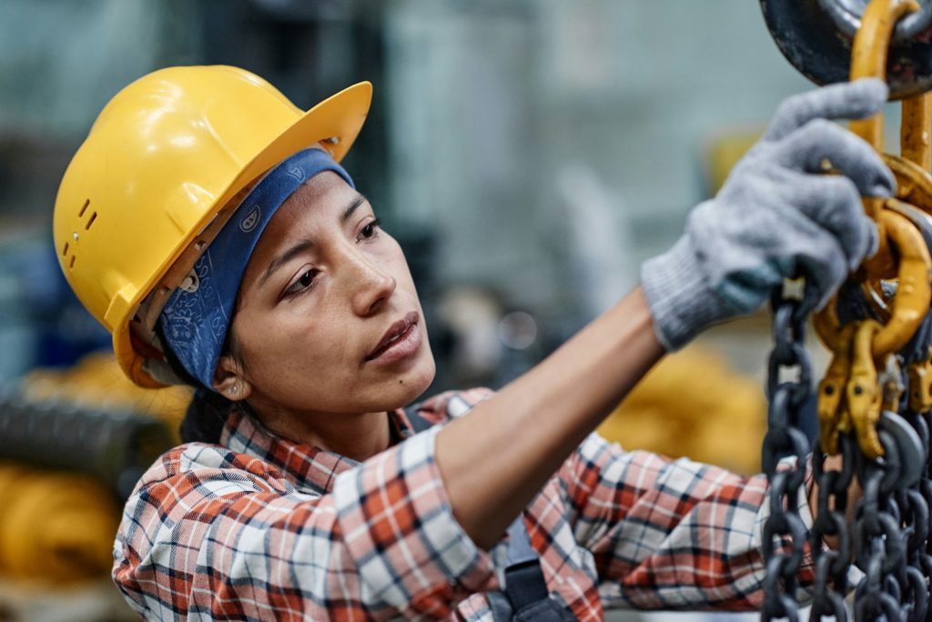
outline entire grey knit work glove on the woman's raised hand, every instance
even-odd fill
[[[864,118],[886,101],[883,81],[832,85],[784,101],[718,196],[692,210],[671,250],[641,267],[654,330],[667,350],[769,300],[805,277],[803,304],[821,308],[877,250],[860,195],[891,196],[893,174],[867,142],[830,122]],[[824,161],[842,175],[824,175]]]

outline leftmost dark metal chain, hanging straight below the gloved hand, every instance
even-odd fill
[[[800,412],[812,393],[812,365],[804,343],[805,316],[800,302],[783,296],[774,300],[774,350],[768,363],[768,430],[763,439],[761,464],[770,483],[770,516],[763,526],[763,556],[767,575],[761,620],[799,619],[796,590],[806,542],[800,517],[802,481],[809,439],[800,429]],[[790,377],[787,377],[790,376]],[[781,458],[794,456],[795,464]],[[781,549],[774,548],[779,538]]]

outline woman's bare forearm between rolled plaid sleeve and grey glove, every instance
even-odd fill
[[[540,365],[437,435],[437,466],[463,529],[491,548],[573,449],[664,355],[632,291]]]

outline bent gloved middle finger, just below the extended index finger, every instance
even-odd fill
[[[802,172],[825,172],[828,160],[863,196],[893,196],[897,187],[893,173],[868,142],[827,119],[809,121],[774,149],[782,164]]]

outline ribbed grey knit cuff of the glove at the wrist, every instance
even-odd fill
[[[667,352],[678,350],[708,325],[733,315],[733,309],[709,287],[688,235],[664,254],[644,262],[640,273],[653,331]]]

